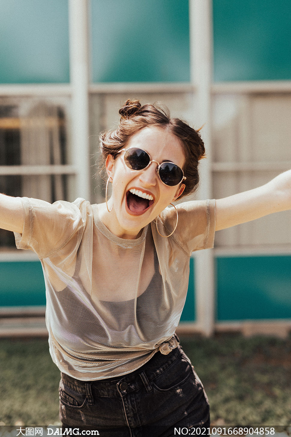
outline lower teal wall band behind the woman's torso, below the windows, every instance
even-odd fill
[[[195,321],[194,262],[181,322]],[[45,305],[41,263],[0,262],[0,306]],[[218,321],[291,318],[291,256],[216,258]]]

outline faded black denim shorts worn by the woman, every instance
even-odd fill
[[[79,381],[62,373],[59,395],[63,430],[91,427],[104,437],[185,435],[187,428],[208,434],[209,402],[180,345],[117,378]]]

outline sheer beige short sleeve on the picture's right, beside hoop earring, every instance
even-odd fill
[[[175,206],[178,211],[178,225],[171,237],[181,249],[190,255],[195,250],[213,247],[215,200],[188,201]],[[161,218],[165,232],[170,233],[177,221],[175,208],[166,208]]]

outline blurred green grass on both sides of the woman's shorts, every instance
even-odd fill
[[[291,338],[180,338],[213,425],[291,425]],[[0,423],[58,424],[60,372],[47,340],[0,340]]]

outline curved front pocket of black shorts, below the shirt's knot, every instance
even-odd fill
[[[158,375],[151,384],[160,392],[168,392],[182,385],[193,375],[192,366],[180,355],[166,370]]]

